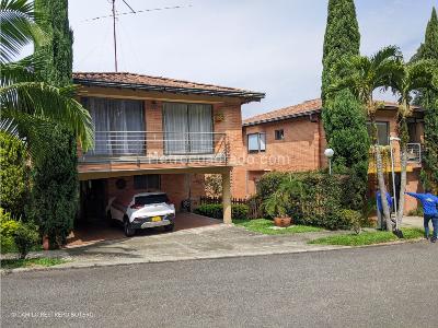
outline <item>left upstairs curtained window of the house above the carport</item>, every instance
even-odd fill
[[[95,128],[96,155],[129,155],[145,152],[143,102],[100,97],[82,98]]]

